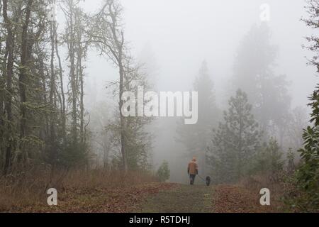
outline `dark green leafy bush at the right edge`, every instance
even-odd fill
[[[292,190],[286,202],[298,211],[319,211],[319,84],[310,98],[313,113],[308,126],[303,130],[304,148],[301,153],[301,164],[293,177],[289,179]]]

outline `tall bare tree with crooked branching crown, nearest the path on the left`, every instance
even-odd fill
[[[128,170],[128,155],[125,148],[127,140],[125,138],[125,118],[122,113],[123,92],[125,89],[125,61],[129,55],[125,52],[124,33],[121,25],[122,6],[117,0],[105,0],[99,13],[91,20],[92,31],[89,31],[91,40],[109,57],[118,67],[118,112],[120,115],[120,134],[121,134],[121,155],[123,169]]]

